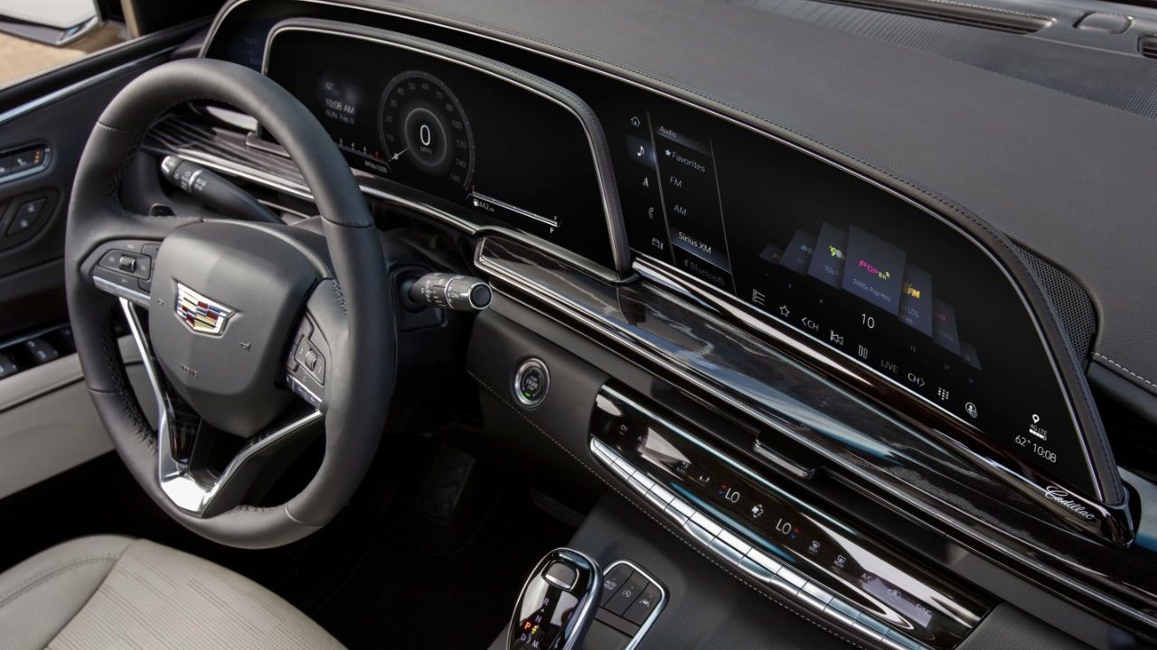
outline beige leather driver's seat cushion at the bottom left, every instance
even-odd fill
[[[0,574],[5,650],[329,649],[317,623],[259,584],[147,540],[86,537]]]

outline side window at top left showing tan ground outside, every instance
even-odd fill
[[[74,62],[130,38],[95,0],[0,2],[0,87]]]

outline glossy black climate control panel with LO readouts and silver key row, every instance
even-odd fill
[[[708,444],[604,386],[590,450],[727,566],[891,648],[951,648],[986,607]]]

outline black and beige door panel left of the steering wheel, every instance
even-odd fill
[[[0,498],[112,449],[67,330],[68,199],[88,135],[111,98],[202,27],[139,38],[0,88]],[[120,347],[149,412],[154,400],[135,346],[123,339]]]

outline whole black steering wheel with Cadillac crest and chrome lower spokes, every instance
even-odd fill
[[[191,101],[231,104],[285,147],[324,238],[288,226],[150,216],[121,179],[149,126]],[[192,179],[196,183],[196,179]],[[393,392],[397,325],[377,229],[317,119],[261,74],[172,61],[126,86],[80,160],[66,239],[68,310],[84,379],[121,459],[190,530],[248,548],[329,523],[377,450]],[[116,339],[125,315],[160,421],[149,426]],[[312,480],[282,505],[244,501],[261,467],[315,441]]]

